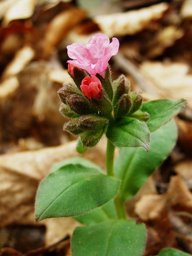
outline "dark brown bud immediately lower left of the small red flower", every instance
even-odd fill
[[[90,101],[82,96],[73,94],[70,97],[67,97],[67,104],[77,114],[81,116],[84,114],[93,114],[95,109],[91,106]]]

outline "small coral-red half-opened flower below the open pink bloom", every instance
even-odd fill
[[[101,97],[101,82],[97,76],[86,76],[80,86],[82,93],[88,98],[91,97],[99,99]]]

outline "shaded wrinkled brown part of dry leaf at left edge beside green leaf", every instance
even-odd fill
[[[33,224],[38,182],[11,168],[0,167],[0,184],[0,226]]]

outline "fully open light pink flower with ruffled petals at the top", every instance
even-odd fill
[[[89,74],[105,75],[108,61],[111,56],[116,55],[119,48],[119,41],[113,37],[110,43],[109,38],[103,34],[96,34],[89,40],[86,46],[74,43],[67,46],[69,58],[68,63],[78,68],[85,69]]]

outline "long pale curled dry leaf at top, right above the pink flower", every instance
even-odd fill
[[[168,8],[167,3],[160,3],[124,13],[99,15],[94,21],[108,37],[133,35],[146,28],[152,20],[160,19]]]

